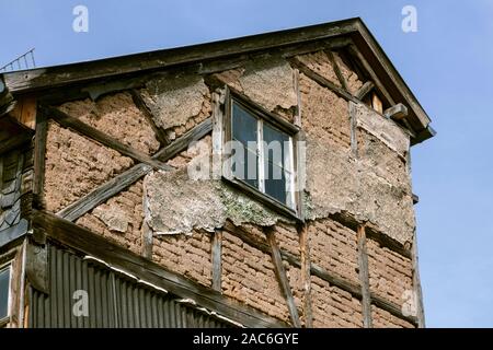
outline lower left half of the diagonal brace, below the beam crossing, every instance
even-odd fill
[[[99,205],[104,203],[108,198],[115,196],[116,194],[121,192],[122,190],[137,182],[140,177],[148,174],[151,170],[152,167],[147,164],[137,164],[128,171],[104,183],[70,206],[64,208],[62,210],[57,212],[57,215],[68,221],[76,221]]]

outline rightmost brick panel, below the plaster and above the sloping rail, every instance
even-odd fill
[[[412,291],[412,261],[372,240],[367,240],[370,291],[397,305],[405,301],[405,292]],[[408,292],[409,293],[409,292]]]

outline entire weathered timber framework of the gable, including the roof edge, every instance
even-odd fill
[[[320,50],[322,43],[325,52],[334,68],[334,72],[341,83],[335,85],[322,75],[318,74],[301,61],[295,58],[300,52],[310,52]],[[354,94],[348,91],[341,68],[337,66],[330,48],[347,49],[356,57],[363,68],[368,72],[371,81],[368,80]],[[141,88],[146,79],[153,77],[158,70],[163,68],[192,69],[200,74],[210,74],[215,71],[238,67],[248,59],[249,55],[256,55],[266,50],[276,50],[288,59],[295,71],[295,85],[298,83],[299,74],[305,74],[317,82],[319,85],[334,92],[337,96],[351,103],[362,103],[371,93],[378,93],[383,102],[390,106],[381,113],[387,118],[392,118],[401,128],[409,131],[412,143],[419,143],[434,136],[434,130],[429,126],[429,118],[423,110],[414,95],[403,82],[402,78],[390,63],[378,43],[371,36],[365,24],[359,19],[352,19],[330,24],[317,25],[307,28],[291,30],[276,33],[267,33],[231,39],[211,44],[196,45],[177,49],[154,51],[149,54],[131,55],[127,57],[112,58],[85,63],[76,63],[61,67],[54,67],[41,70],[31,70],[26,72],[14,72],[4,74],[4,80],[14,96],[22,98],[33,92],[43,92],[43,97],[37,101],[35,115],[35,138],[34,138],[34,180],[33,180],[33,207],[35,210],[23,225],[13,230],[12,237],[8,242],[0,242],[0,245],[11,244],[19,241],[21,236],[30,234],[28,245],[43,246],[47,241],[56,242],[62,246],[76,252],[94,256],[116,268],[140,276],[142,279],[159,285],[182,298],[190,298],[202,306],[215,311],[228,318],[234,319],[246,327],[286,327],[289,326],[273,317],[270,317],[252,307],[244,306],[234,300],[221,294],[221,248],[222,233],[239,237],[252,247],[267,254],[272,258],[275,268],[275,275],[283,292],[286,305],[289,311],[291,326],[312,327],[312,311],[310,301],[310,280],[316,276],[329,284],[340,288],[351,293],[355,299],[362,302],[363,326],[372,327],[371,305],[389,312],[395,317],[406,320],[414,326],[424,327],[424,313],[421,296],[421,285],[417,270],[416,243],[403,245],[389,238],[385,233],[374,228],[370,223],[359,222],[351,215],[341,212],[330,215],[331,220],[351,229],[357,240],[358,247],[358,283],[347,281],[336,273],[330,272],[322,267],[310,261],[309,244],[307,238],[308,228],[312,224],[303,218],[303,208],[297,208],[297,214],[286,212],[285,208],[277,208],[278,211],[289,219],[295,219],[300,242],[300,256],[295,256],[289,252],[282,249],[276,241],[275,232],[272,228],[265,228],[265,242],[260,243],[251,234],[231,222],[227,222],[221,230],[216,230],[213,234],[211,261],[213,261],[213,283],[210,289],[192,282],[191,280],[165,270],[157,264],[150,261],[152,254],[152,237],[147,240],[146,247],[138,256],[113,244],[100,235],[83,229],[74,222],[83,214],[90,212],[107,199],[121,192],[131,184],[136,183],[152,170],[172,171],[172,166],[167,161],[173,159],[185,151],[188,144],[199,140],[214,131],[221,131],[223,126],[219,125],[225,118],[221,106],[228,97],[225,97],[223,84],[218,85],[217,93],[213,94],[213,116],[208,117],[193,129],[187,131],[174,141],[168,137],[153,124],[151,110],[146,106],[138,88]],[[135,61],[139,61],[138,67]],[[139,74],[139,75],[137,75]],[[80,85],[90,84],[89,88]],[[64,86],[64,89],[60,89]],[[230,88],[228,88],[231,90]],[[226,89],[226,90],[228,90]],[[60,92],[61,90],[61,92]],[[159,151],[152,155],[125,145],[108,135],[96,130],[85,122],[54,107],[59,102],[77,100],[85,96],[96,98],[98,96],[111,92],[129,91],[136,106],[144,113],[161,144]],[[236,97],[240,94],[231,90]],[[299,94],[299,91],[298,91]],[[241,98],[241,96],[239,97]],[[299,96],[298,96],[299,100]],[[248,101],[249,105],[254,105]],[[298,105],[294,125],[275,117],[284,128],[296,133],[297,138],[302,138],[301,130],[301,105]],[[265,113],[265,110],[262,110]],[[7,117],[5,117],[7,118]],[[9,118],[11,118],[9,116]],[[0,119],[0,122],[7,119]],[[54,120],[64,128],[70,128],[76,132],[85,136],[91,140],[108,147],[119,153],[131,158],[136,165],[114,178],[100,185],[90,194],[83,196],[70,206],[61,209],[56,214],[44,211],[43,199],[44,172],[45,172],[45,152],[47,124]],[[354,120],[353,120],[354,121]],[[9,120],[11,122],[11,120]],[[14,121],[12,121],[14,122]],[[287,124],[287,125],[285,125]],[[18,128],[25,126],[15,122]],[[353,125],[353,128],[356,128]],[[31,133],[25,133],[23,142],[32,138]],[[352,141],[354,142],[354,135]],[[219,144],[220,144],[219,140]],[[217,151],[218,141],[213,140],[213,149]],[[354,148],[354,144],[352,144]],[[0,145],[0,153],[2,153]],[[244,188],[240,188],[245,190]],[[299,196],[299,194],[297,195]],[[417,196],[416,196],[417,197]],[[297,202],[300,202],[299,198]],[[283,211],[284,209],[284,211]],[[32,229],[28,231],[28,229]],[[3,240],[3,238],[2,238]],[[368,277],[368,253],[366,248],[367,240],[372,240],[381,247],[411,259],[413,262],[413,285],[419,295],[419,307],[416,316],[404,315],[399,305],[395,305],[381,296],[372,293],[369,289]],[[415,237],[414,237],[415,240]],[[39,252],[33,248],[25,248],[27,261],[32,261]],[[303,280],[303,303],[302,314],[305,316],[301,324],[298,310],[294,302],[293,291],[289,287],[284,262],[301,269]],[[30,283],[39,290],[44,290],[46,276],[39,271],[34,271],[34,267],[27,268],[26,275]],[[21,318],[22,319],[22,318]]]

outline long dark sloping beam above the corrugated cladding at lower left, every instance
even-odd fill
[[[278,319],[267,316],[253,307],[221,295],[217,291],[205,288],[185,277],[165,270],[156,262],[129,252],[112,243],[103,236],[78,226],[55,214],[35,211],[33,229],[43,229],[48,238],[70,247],[77,252],[101,259],[123,271],[138,276],[149,283],[156,284],[183,299],[191,299],[207,310],[233,319],[246,327],[286,327]]]

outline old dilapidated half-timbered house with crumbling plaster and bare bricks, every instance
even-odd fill
[[[434,131],[359,19],[1,78],[2,326],[424,326]]]

